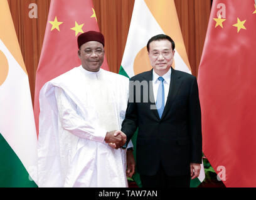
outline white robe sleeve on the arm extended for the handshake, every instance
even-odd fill
[[[90,139],[104,143],[107,130],[97,127],[95,121],[90,118],[83,119],[77,109],[77,105],[61,88],[55,88],[55,97],[58,106],[58,117],[63,129],[79,138]]]

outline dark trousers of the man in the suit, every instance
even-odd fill
[[[160,164],[154,176],[141,175],[142,187],[189,187],[190,174],[186,176],[168,176]]]

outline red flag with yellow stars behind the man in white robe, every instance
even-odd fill
[[[34,113],[37,133],[40,89],[47,81],[81,64],[77,56],[77,36],[87,31],[99,31],[92,0],[51,1],[36,71]],[[106,59],[102,68],[109,70]]]

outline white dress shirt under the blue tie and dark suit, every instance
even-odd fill
[[[156,103],[156,98],[157,98],[157,90],[159,87],[159,84],[161,83],[161,81],[158,80],[159,75],[156,74],[156,72],[153,69],[153,93],[154,93],[154,101]],[[166,105],[166,101],[167,101],[167,97],[168,97],[168,93],[169,93],[169,87],[170,87],[170,83],[171,83],[171,68],[169,69],[169,71],[164,74],[164,76],[162,76],[164,78],[164,106]]]

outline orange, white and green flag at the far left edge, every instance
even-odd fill
[[[0,187],[36,187],[36,143],[28,73],[8,2],[1,0]]]

